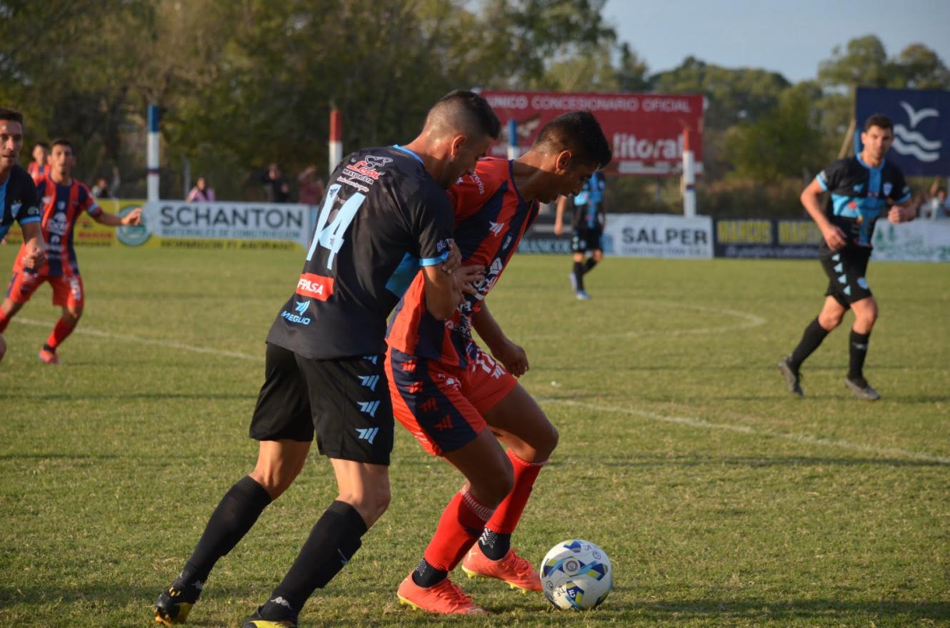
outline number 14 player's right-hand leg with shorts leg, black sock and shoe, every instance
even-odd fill
[[[338,494],[245,628],[295,626],[306,601],[352,559],[390,504],[394,422],[383,357],[296,360],[310,391],[319,451],[331,460]]]

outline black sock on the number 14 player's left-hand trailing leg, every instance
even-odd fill
[[[239,479],[211,513],[195,551],[185,563],[181,580],[188,584],[204,582],[218,559],[237,545],[270,503],[270,494],[250,475]]]

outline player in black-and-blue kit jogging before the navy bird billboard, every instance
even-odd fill
[[[819,259],[828,277],[825,305],[808,323],[802,341],[778,368],[788,384],[788,392],[799,397],[802,362],[841,324],[845,312],[854,312],[849,339],[849,365],[845,385],[856,397],[874,401],[881,395],[864,379],[864,358],[871,328],[878,318],[878,304],[864,278],[871,256],[874,224],[886,212],[898,224],[913,220],[917,207],[901,170],[884,158],[894,141],[894,125],[881,114],[864,122],[860,155],[838,159],[818,174],[802,192],[802,204],[822,231]],[[822,210],[820,196],[830,193]]]

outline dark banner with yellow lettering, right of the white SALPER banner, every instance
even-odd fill
[[[822,233],[812,220],[715,221],[716,257],[814,258]]]

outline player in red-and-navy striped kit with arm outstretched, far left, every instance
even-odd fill
[[[136,208],[120,217],[104,212],[85,184],[72,176],[76,164],[72,142],[57,139],[49,154],[49,174],[37,179],[36,190],[43,198],[43,238],[47,242],[47,263],[29,268],[26,245],[13,262],[13,277],[7,288],[7,298],[0,304],[0,333],[7,327],[20,308],[29,301],[36,288],[49,282],[53,289],[53,305],[62,305],[63,315],[53,327],[47,342],[40,349],[39,358],[47,364],[58,364],[56,351],[66,340],[83,315],[85,295],[83,278],[79,274],[76,249],[72,244],[72,230],[81,212],[103,225],[139,225],[142,208]]]

